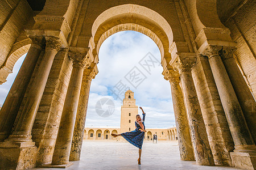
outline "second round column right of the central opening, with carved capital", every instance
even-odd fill
[[[180,81],[188,112],[188,122],[191,129],[196,163],[199,165],[214,165],[212,151],[210,150],[203,116],[191,75],[191,69],[195,65],[195,62],[196,58],[194,56],[179,56],[175,65],[180,73]]]

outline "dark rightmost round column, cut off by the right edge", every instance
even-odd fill
[[[233,57],[233,52],[236,48],[222,46],[220,56],[224,63],[226,72],[229,75],[230,82],[236,92],[237,99],[243,111],[243,116],[247,122],[254,143],[256,141],[256,103],[251,91],[249,90],[245,79],[243,78],[240,69],[237,66],[236,59]]]

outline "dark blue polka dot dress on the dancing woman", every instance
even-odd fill
[[[143,122],[142,124],[144,125],[144,129],[145,129],[145,115],[146,113],[143,113]],[[139,124],[137,124],[137,122],[135,122],[135,127],[136,129],[133,131],[127,131],[125,133],[121,133],[122,137],[126,139],[126,141],[128,141],[129,143],[131,143],[131,145],[134,145],[138,148],[142,148],[142,144],[143,144],[143,139],[144,139],[144,131],[141,131],[139,129],[141,129],[141,126],[139,126]]]

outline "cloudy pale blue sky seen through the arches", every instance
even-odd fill
[[[3,104],[23,59],[21,57],[16,62],[14,73],[8,76],[7,82],[0,85],[0,105]],[[147,128],[175,126],[170,83],[162,75],[158,46],[149,37],[134,31],[115,33],[101,45],[97,66],[99,73],[90,87],[86,127],[120,126],[120,99],[123,99],[124,93],[121,91],[115,95],[113,91],[117,94],[121,87],[123,91],[130,87],[134,92],[136,105],[142,106],[146,112]],[[96,103],[104,97],[112,100],[115,105],[114,112],[109,117],[101,117],[96,113]]]

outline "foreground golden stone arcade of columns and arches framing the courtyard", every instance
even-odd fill
[[[181,160],[256,168],[254,0],[6,0],[0,82],[26,58],[0,111],[0,169],[79,160],[98,51],[115,32],[155,41]]]

